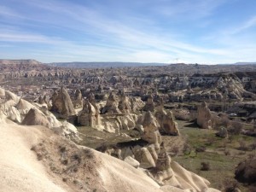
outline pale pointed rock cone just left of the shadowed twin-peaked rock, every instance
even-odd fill
[[[147,141],[148,143],[161,143],[159,127],[160,125],[154,118],[153,114],[149,111],[145,113],[143,119],[143,140]]]

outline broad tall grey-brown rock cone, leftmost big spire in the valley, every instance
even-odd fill
[[[70,96],[68,95],[67,90],[64,87],[61,87],[61,90],[59,90],[59,92],[55,91],[54,95],[52,96],[51,110],[61,114],[61,116],[63,116],[64,118],[76,114]]]

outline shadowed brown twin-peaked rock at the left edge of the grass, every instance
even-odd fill
[[[177,129],[177,122],[174,121],[171,111],[166,111],[160,108],[156,113],[155,117],[160,124],[160,132],[168,135],[178,136],[179,131]]]

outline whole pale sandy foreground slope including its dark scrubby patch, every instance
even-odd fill
[[[125,162],[42,126],[0,122],[0,130],[1,191],[161,191]]]

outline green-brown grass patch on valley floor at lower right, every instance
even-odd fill
[[[179,121],[179,130],[186,139],[186,143],[191,147],[189,154],[178,155],[172,157],[172,160],[177,161],[190,172],[195,172],[201,177],[207,178],[210,181],[211,187],[216,189],[224,189],[225,181],[236,182],[235,169],[239,162],[245,160],[248,155],[256,154],[255,150],[241,151],[239,149],[241,141],[248,146],[253,144],[255,137],[247,137],[244,135],[230,136],[230,138],[216,137],[217,131],[199,129],[190,122]],[[201,152],[196,151],[196,148],[204,147]],[[228,153],[227,153],[228,152]],[[210,169],[201,171],[201,163],[207,162]],[[249,191],[247,186],[239,183],[241,191]]]

